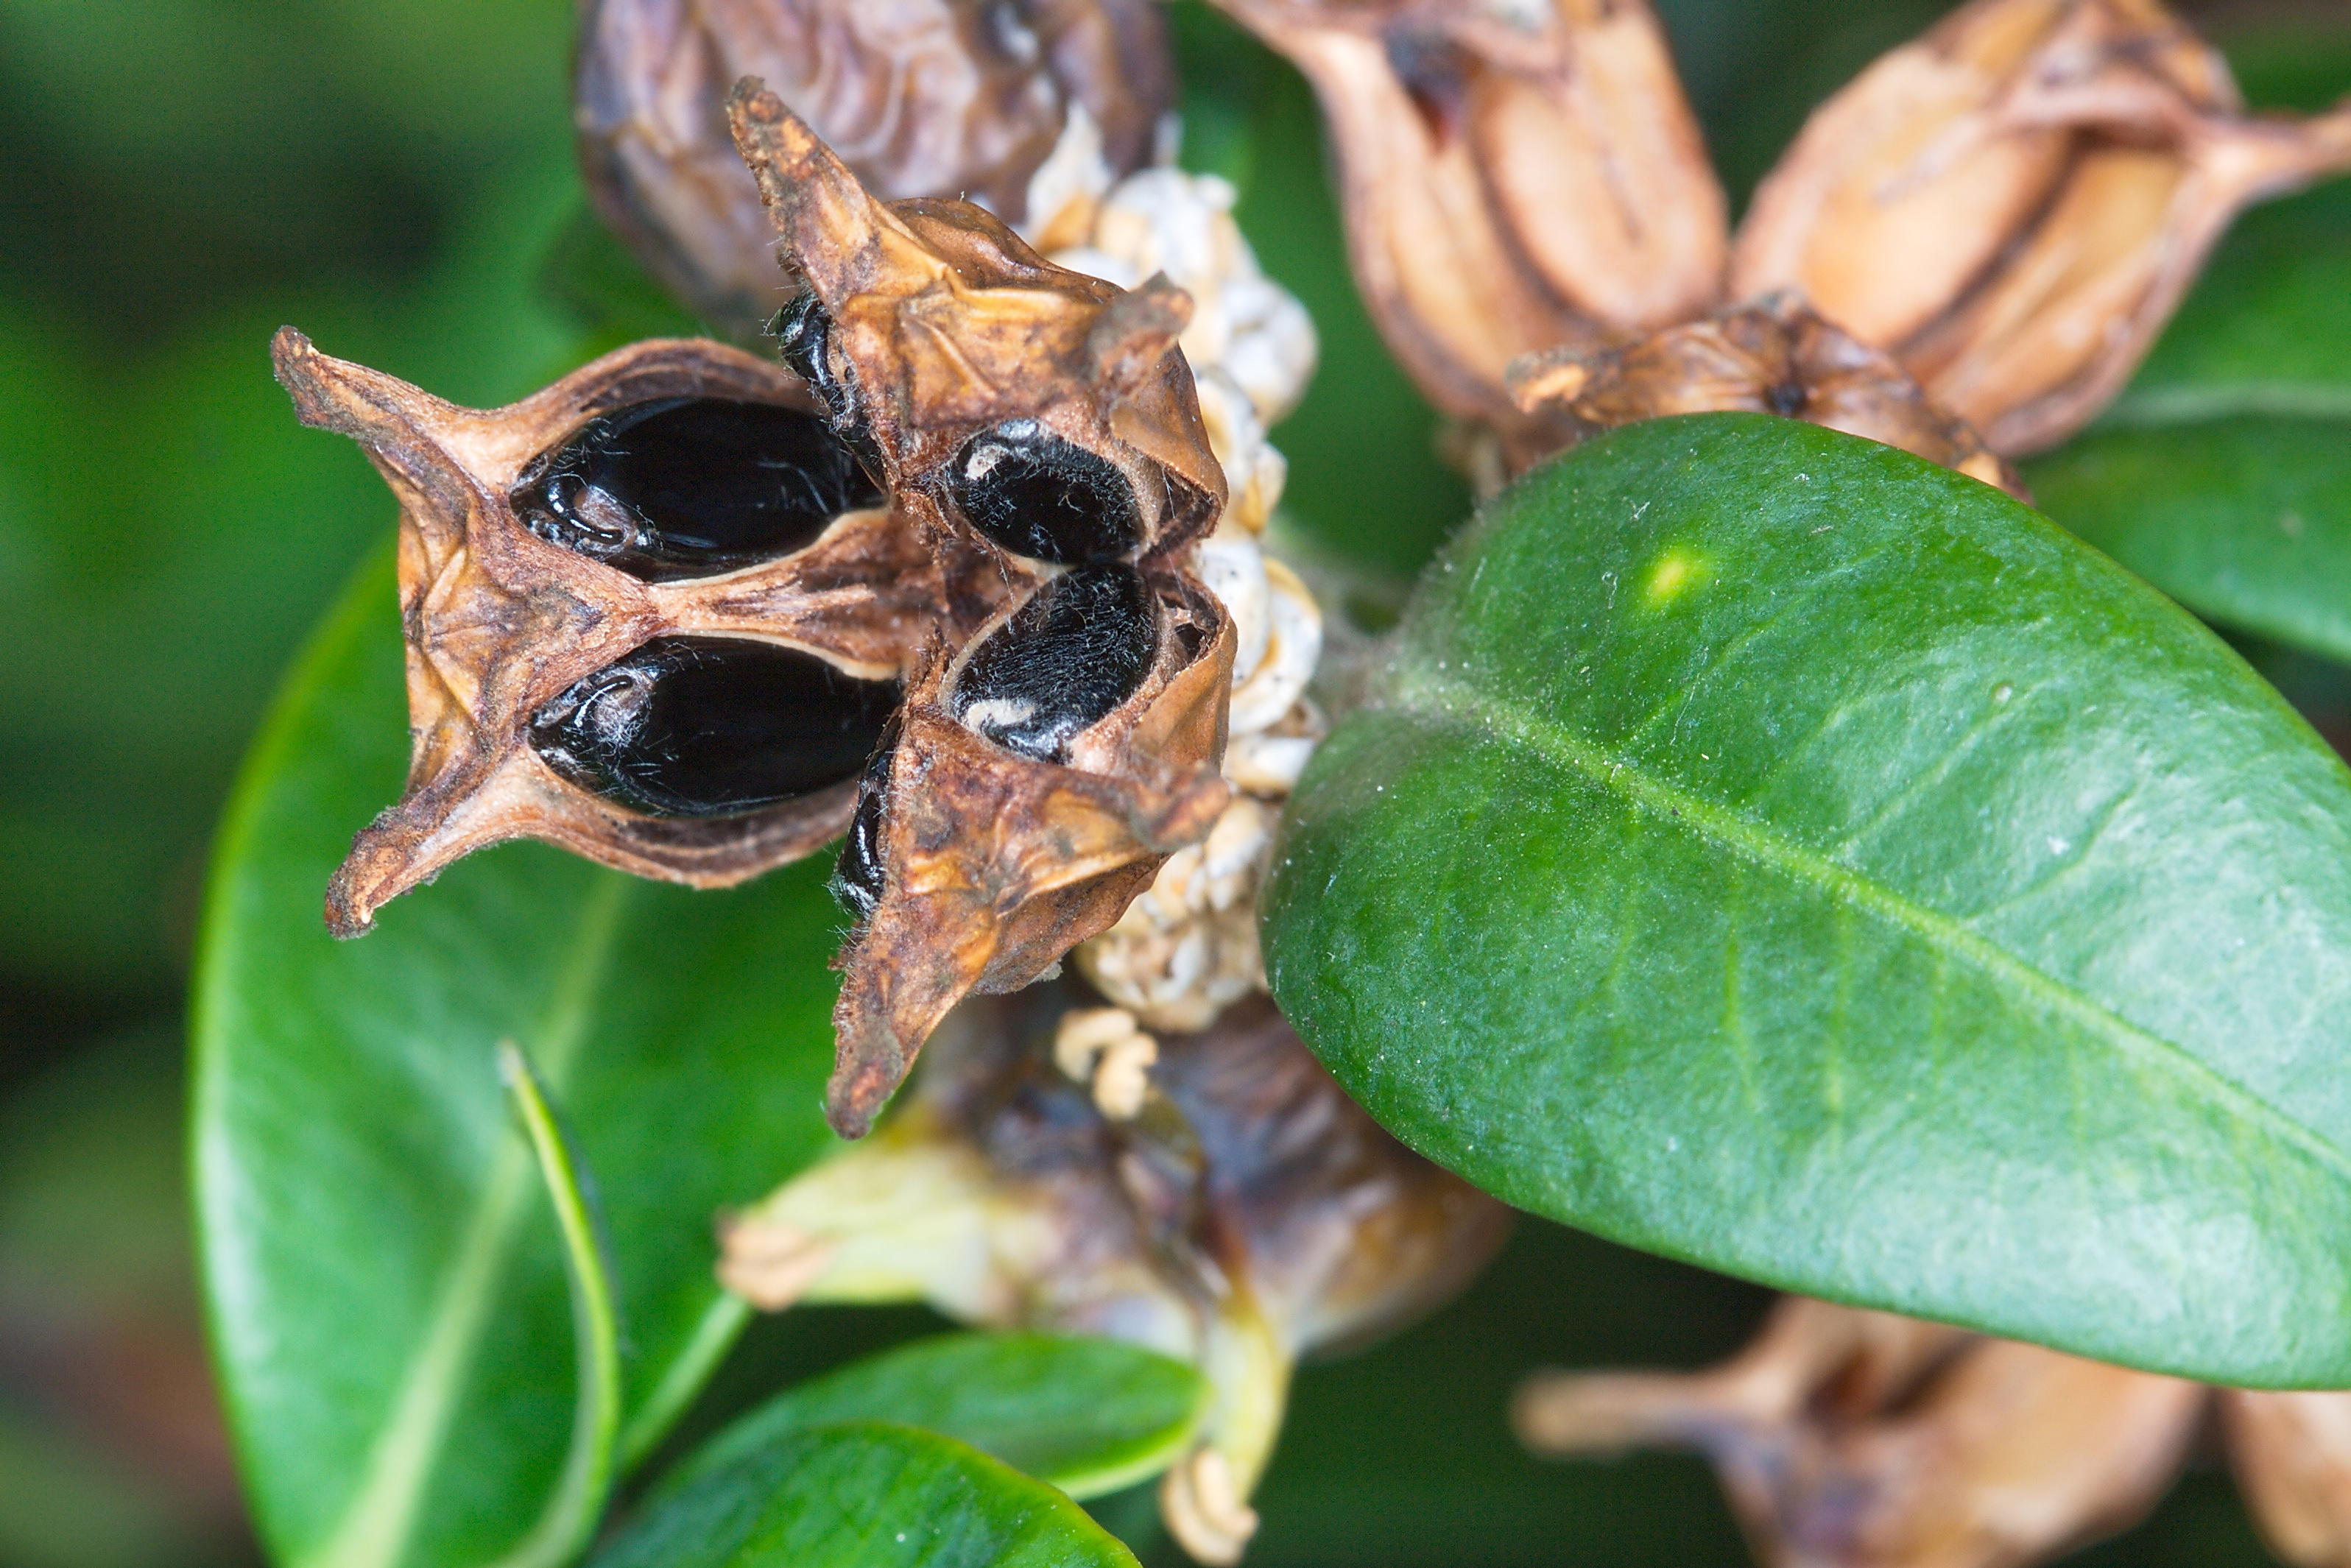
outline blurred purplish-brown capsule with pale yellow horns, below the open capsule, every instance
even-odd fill
[[[929,1300],[1194,1361],[1204,1448],[1161,1509],[1192,1556],[1232,1563],[1298,1356],[1436,1307],[1509,1211],[1382,1133],[1265,997],[1154,1041],[1117,1114],[1100,1056],[1136,1037],[1074,983],[966,1004],[870,1143],[724,1227],[719,1279],[766,1309]]]

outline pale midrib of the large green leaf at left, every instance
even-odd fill
[[[569,957],[548,990],[548,1011],[531,1053],[550,1091],[564,1086],[588,1037],[590,1004],[609,969],[630,886],[625,877],[602,872],[581,900]],[[390,1418],[369,1446],[360,1486],[324,1542],[296,1559],[299,1568],[395,1568],[407,1556],[442,1439],[456,1418],[456,1389],[480,1356],[489,1298],[520,1239],[529,1194],[529,1145],[520,1128],[508,1126],[480,1199],[458,1232],[451,1265],[433,1293],[416,1340],[421,1349],[407,1363],[388,1406]]]

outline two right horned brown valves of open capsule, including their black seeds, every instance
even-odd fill
[[[969,202],[882,205],[757,82],[729,113],[809,282],[785,362],[945,592],[842,858],[828,1114],[858,1135],[959,997],[1034,980],[1223,811],[1232,630],[1190,548],[1225,475],[1183,289],[1051,266]]]

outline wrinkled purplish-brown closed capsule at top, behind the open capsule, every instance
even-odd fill
[[[969,195],[1037,233],[1143,167],[1173,99],[1147,0],[590,0],[588,188],[672,292],[738,336],[792,292],[726,134],[743,75],[776,82],[877,195]]]

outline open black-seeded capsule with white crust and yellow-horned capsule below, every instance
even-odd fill
[[[726,108],[797,284],[773,357],[637,343],[475,411],[275,343],[402,503],[411,773],[327,919],[510,837],[696,886],[842,837],[835,1126],[938,1030],[933,1065],[731,1222],[722,1279],[1201,1363],[1161,1497],[1234,1561],[1288,1366],[1505,1229],[1262,997],[1255,889],[1324,731],[1319,609],[1258,541],[1312,327],[1220,181],[1096,160],[1049,261],[978,205],[877,200],[757,82]],[[1093,990],[1053,978],[1072,950]]]

